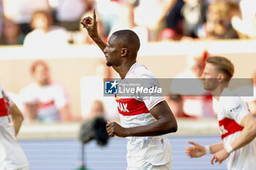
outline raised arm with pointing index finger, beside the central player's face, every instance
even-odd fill
[[[105,47],[107,47],[107,44],[100,38],[98,34],[95,9],[94,9],[93,18],[91,17],[83,18],[83,20],[80,21],[80,24],[82,24],[83,27],[86,28],[91,39],[94,40],[94,42],[99,46],[100,50],[102,50],[103,52]]]

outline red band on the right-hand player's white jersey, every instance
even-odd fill
[[[235,134],[237,131],[242,131],[244,128],[236,123],[235,120],[226,117],[222,120],[219,120],[219,129],[222,134],[222,139],[224,139],[230,134]]]

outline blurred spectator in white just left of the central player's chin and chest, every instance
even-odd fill
[[[106,66],[105,60],[97,61],[94,66],[94,76],[82,77],[80,80],[81,110],[84,118],[89,117],[93,101],[99,100],[105,105],[105,118],[117,120],[119,118],[117,105],[113,97],[104,95],[104,80],[112,78],[112,68]]]

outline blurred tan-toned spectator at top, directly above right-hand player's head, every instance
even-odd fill
[[[233,4],[235,5],[235,4]],[[238,34],[231,25],[230,3],[217,1],[208,6],[206,23],[198,30],[200,38],[208,39],[238,39]],[[233,14],[234,11],[230,12]]]

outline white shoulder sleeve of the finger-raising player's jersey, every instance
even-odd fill
[[[141,77],[140,82],[142,82],[143,88],[148,88],[152,93],[140,93],[140,99],[145,103],[147,109],[151,110],[161,101],[164,101],[165,98],[162,97],[162,93],[159,93],[159,84],[155,77],[147,75]]]

